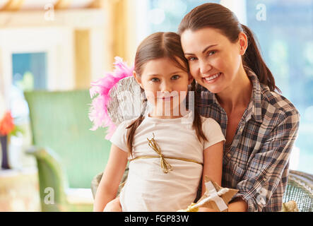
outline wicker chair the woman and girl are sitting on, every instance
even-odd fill
[[[126,168],[122,182],[127,178],[128,168]],[[102,172],[97,174],[91,182],[93,197],[97,191],[98,185],[102,178]],[[120,191],[121,188],[119,188]],[[119,191],[117,194],[119,194]],[[297,210],[300,212],[313,212],[313,175],[295,170],[289,171],[288,185],[283,196],[283,212],[289,212],[285,203],[295,201]],[[293,210],[294,211],[294,210]]]

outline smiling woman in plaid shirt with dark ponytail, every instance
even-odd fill
[[[274,91],[251,30],[228,8],[198,6],[183,18],[178,33],[198,83],[196,107],[219,122],[226,138],[222,186],[239,189],[228,210],[279,211],[299,126],[297,109]]]

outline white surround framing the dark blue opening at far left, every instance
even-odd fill
[[[31,52],[47,53],[48,90],[74,87],[73,30],[70,28],[1,29],[0,49],[0,76],[5,88],[12,83],[12,54]]]

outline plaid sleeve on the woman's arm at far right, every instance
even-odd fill
[[[248,204],[249,212],[262,211],[272,194],[278,188],[284,170],[288,170],[288,161],[293,143],[297,137],[300,115],[291,114],[273,128],[261,150],[254,155],[244,172],[244,180],[237,184],[240,191],[233,197],[240,197]],[[288,175],[287,175],[288,176]],[[283,178],[286,186],[286,178]],[[281,206],[283,186],[280,197],[276,197],[276,207]]]

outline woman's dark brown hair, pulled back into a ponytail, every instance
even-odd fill
[[[276,89],[280,92],[275,85],[275,80],[271,71],[261,57],[252,30],[246,25],[239,23],[235,13],[232,13],[228,8],[220,4],[202,4],[201,6],[192,9],[186,16],[184,16],[182,22],[179,24],[178,33],[179,35],[182,35],[185,30],[195,31],[201,28],[218,29],[223,35],[228,37],[230,42],[236,42],[240,32],[244,32],[248,38],[248,47],[242,57],[244,67],[248,67],[254,71],[256,76],[258,76],[260,83],[268,85],[271,91]]]

